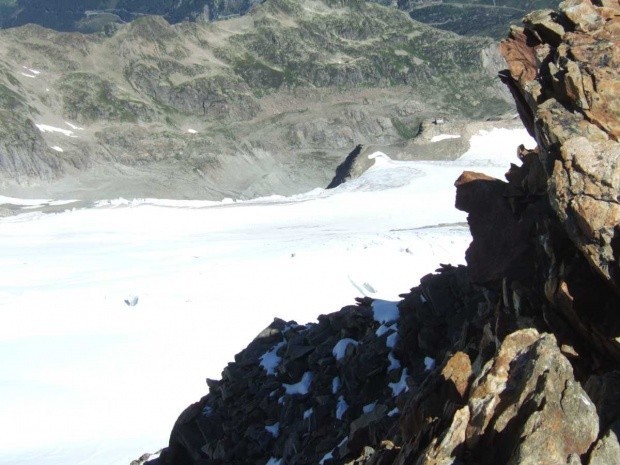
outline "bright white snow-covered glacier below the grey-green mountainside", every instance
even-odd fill
[[[359,179],[293,197],[0,219],[0,464],[128,465],[273,317],[398,300],[463,263],[454,180],[501,178],[524,141],[481,133],[455,162],[375,154]]]

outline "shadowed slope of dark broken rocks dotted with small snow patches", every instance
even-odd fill
[[[316,464],[330,454],[324,463],[341,463],[375,449],[394,455],[382,443],[398,431],[406,392],[427,378],[429,360],[444,357],[444,347],[465,348],[465,334],[481,331],[463,328],[484,301],[465,267],[443,266],[398,306],[365,298],[317,324],[276,319],[220,381],[208,380],[209,394],[181,414],[152,463]]]

